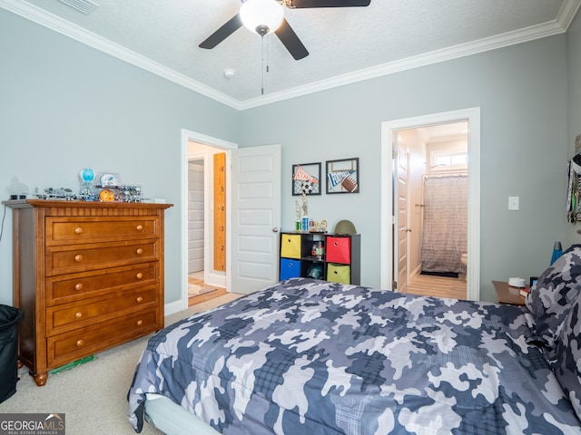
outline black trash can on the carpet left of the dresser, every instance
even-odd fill
[[[25,312],[0,304],[0,403],[16,392],[18,381],[18,324]]]

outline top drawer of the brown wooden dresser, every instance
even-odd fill
[[[46,245],[105,242],[158,237],[155,217],[64,218],[47,217]]]

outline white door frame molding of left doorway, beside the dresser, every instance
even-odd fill
[[[237,149],[238,144],[230,142],[228,140],[222,140],[219,138],[214,138],[206,134],[197,131],[188,131],[182,129],[182,152],[181,152],[181,198],[180,203],[182,207],[182,216],[180,217],[180,251],[181,251],[181,281],[182,281],[182,295],[179,301],[172,304],[171,307],[165,308],[166,314],[176,313],[188,308],[188,143],[190,141],[202,143],[203,145],[208,145],[209,147],[221,148],[226,152],[226,168],[230,168],[231,155],[230,151]],[[226,208],[230,208],[231,204],[231,186],[230,177],[226,178]],[[231,218],[230,215],[226,215],[226,287],[230,288],[230,241],[231,241]]]

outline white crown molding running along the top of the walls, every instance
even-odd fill
[[[25,2],[25,0],[0,0],[0,7],[14,14],[23,16],[36,24],[41,24],[44,27],[54,30],[54,32],[64,34],[65,36],[73,38],[80,43],[89,45],[103,53],[111,54],[118,59],[131,63],[171,82],[177,83],[193,92],[198,92],[216,102],[221,102],[222,104],[230,106],[238,111],[271,104],[272,102],[281,102],[283,100],[289,100],[291,98],[300,97],[314,92],[326,91],[339,86],[362,82],[392,73],[399,73],[433,63],[446,62],[472,54],[496,50],[497,48],[507,47],[517,43],[525,43],[527,41],[533,41],[555,34],[563,34],[573,21],[576,12],[579,9],[579,5],[581,5],[581,0],[565,0],[556,20],[553,22],[530,26],[515,32],[508,32],[507,34],[500,34],[473,43],[464,43],[391,63],[383,63],[355,73],[338,75],[329,79],[321,80],[320,82],[313,82],[286,91],[273,92],[271,94],[262,95],[261,97],[241,102],[222,92],[218,92],[209,86],[196,82],[182,73],[177,73],[160,63],[153,62],[151,59],[144,57],[141,54],[134,53],[119,44],[113,43],[97,34],[89,32],[76,24],[72,24],[63,18],[50,14],[39,7]]]

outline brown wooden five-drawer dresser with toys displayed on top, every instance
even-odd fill
[[[19,359],[48,372],[163,327],[163,213],[171,204],[45,199],[13,209]]]

